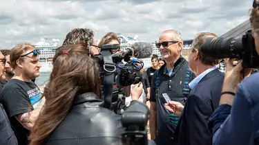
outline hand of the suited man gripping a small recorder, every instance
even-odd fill
[[[180,102],[170,101],[169,103],[164,104],[164,107],[175,115],[180,116],[182,114],[182,110],[184,109],[184,105]]]

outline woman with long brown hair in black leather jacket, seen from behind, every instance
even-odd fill
[[[30,145],[120,144],[120,116],[102,107],[99,71],[92,57],[86,44],[59,47]]]

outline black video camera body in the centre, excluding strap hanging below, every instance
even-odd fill
[[[102,45],[101,48],[102,52],[108,51],[111,53],[111,50],[119,49],[119,47],[120,45],[118,44],[107,44]],[[126,49],[126,51],[111,54],[113,64],[105,62],[104,54],[107,53],[102,52],[96,56],[99,65],[103,68],[101,70],[101,78],[106,71],[115,72],[116,77],[114,82],[116,82],[116,85],[119,88],[137,84],[142,81],[143,76],[140,73],[140,69],[144,67],[144,63],[142,60],[132,57],[134,55],[133,49]],[[124,60],[126,64],[122,64],[122,60]],[[115,67],[117,68],[117,71]]]

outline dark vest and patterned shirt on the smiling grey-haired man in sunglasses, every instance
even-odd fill
[[[188,70],[188,71],[187,71]],[[159,72],[160,75],[156,75]],[[188,72],[188,73],[187,73]],[[157,77],[156,77],[157,76]],[[180,57],[174,65],[173,73],[169,76],[166,66],[163,65],[155,71],[151,85],[151,102],[156,102],[157,108],[157,133],[159,136],[173,137],[178,124],[178,116],[166,110],[162,93],[167,93],[173,101],[184,103],[188,94],[184,94],[189,82],[195,78],[189,70],[189,63]],[[158,84],[159,87],[158,87]],[[186,91],[187,93],[189,91]]]

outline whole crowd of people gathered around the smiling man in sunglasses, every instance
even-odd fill
[[[259,54],[258,6],[250,21]],[[209,37],[217,35],[196,34],[186,60],[180,32],[165,30],[156,43],[162,58],[151,56],[152,67],[140,70],[142,81],[124,87],[130,102],[150,103],[148,127],[157,145],[259,144],[259,74],[242,68],[242,60],[207,59],[200,48]],[[39,49],[20,43],[1,50],[0,144],[124,144],[121,116],[104,108],[95,59],[102,45],[120,43],[113,32],[97,43],[92,30],[71,30],[44,89],[34,82]]]

